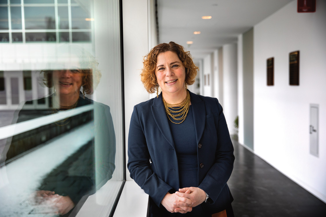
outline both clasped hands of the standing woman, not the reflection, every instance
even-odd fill
[[[179,191],[163,197],[161,204],[169,212],[191,212],[193,207],[198,206],[206,199],[206,193],[198,187],[180,188]]]

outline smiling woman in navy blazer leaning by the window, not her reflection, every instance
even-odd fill
[[[141,80],[157,97],[134,107],[127,166],[149,195],[149,216],[233,216],[233,145],[221,105],[186,89],[198,68],[184,47],[159,44],[143,63]]]

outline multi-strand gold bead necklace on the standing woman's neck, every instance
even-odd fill
[[[165,111],[166,111],[166,114],[168,115],[169,120],[174,124],[181,124],[185,120],[185,117],[187,116],[188,111],[189,111],[189,105],[190,105],[189,92],[187,91],[187,96],[185,97],[185,99],[181,103],[178,103],[178,104],[169,104],[169,103],[165,102],[163,96],[162,96],[162,99],[163,99]],[[174,115],[174,114],[171,114],[171,113],[178,113],[178,114]],[[176,120],[176,121],[181,120],[181,122],[180,123],[173,122],[170,119],[169,115],[174,120]]]

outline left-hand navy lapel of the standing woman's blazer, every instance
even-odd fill
[[[175,149],[175,145],[173,142],[173,138],[168,122],[168,117],[165,112],[165,108],[162,101],[162,93],[158,96],[158,98],[156,97],[154,98],[153,105],[152,105],[152,113],[158,129],[161,131],[164,138]]]

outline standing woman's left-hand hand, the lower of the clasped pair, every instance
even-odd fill
[[[190,190],[187,191],[190,193]],[[206,195],[205,195],[206,198]],[[175,193],[170,194],[169,192],[163,197],[161,204],[167,209],[169,212],[180,212],[186,213],[192,210],[191,200],[186,197],[179,197]]]

